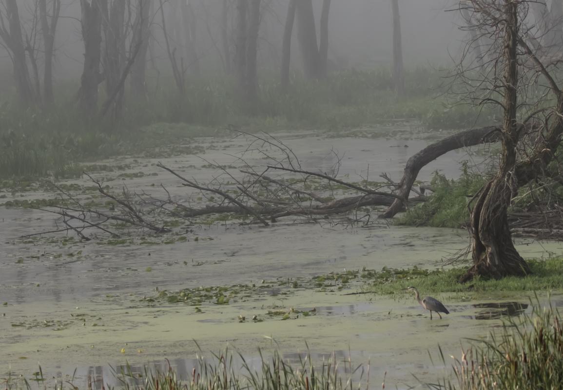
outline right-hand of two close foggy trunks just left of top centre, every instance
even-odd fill
[[[249,111],[254,114],[258,104],[258,75],[257,54],[258,54],[258,30],[260,29],[260,0],[250,1],[250,17],[248,26],[247,60],[245,75],[245,92]]]

